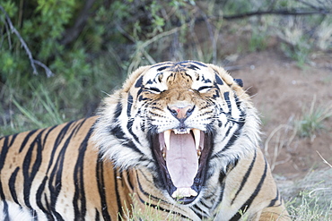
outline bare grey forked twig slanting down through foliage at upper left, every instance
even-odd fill
[[[24,50],[25,52],[27,53],[28,57],[29,57],[29,60],[30,60],[30,64],[31,64],[31,67],[32,67],[32,70],[33,70],[33,74],[38,74],[37,72],[37,68],[35,66],[35,64],[38,64],[39,66],[41,66],[42,68],[45,69],[46,73],[47,73],[47,76],[50,77],[50,76],[53,76],[54,73],[51,72],[49,70],[49,68],[45,65],[45,64],[42,64],[41,62],[33,59],[33,56],[31,54],[31,51],[29,49],[29,47],[27,46],[27,44],[25,43],[25,41],[23,40],[20,32],[18,30],[15,29],[15,27],[13,27],[13,23],[11,21],[11,19],[9,18],[8,14],[4,11],[4,8],[3,6],[0,5],[0,10],[4,13],[4,16],[5,16],[5,20],[7,21],[7,23],[9,24],[9,28],[10,30],[12,31],[12,33],[14,33],[17,38],[19,38],[21,44],[22,44],[22,47],[24,47]]]

